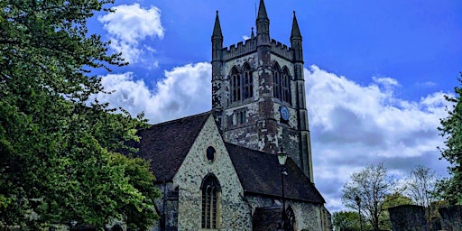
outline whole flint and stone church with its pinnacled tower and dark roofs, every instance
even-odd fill
[[[217,12],[211,43],[211,110],[139,133],[162,191],[152,230],[331,230],[313,181],[295,13],[291,46],[270,38],[263,0],[249,39],[223,47]]]

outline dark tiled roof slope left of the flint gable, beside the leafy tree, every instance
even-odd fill
[[[151,170],[158,181],[170,181],[205,125],[210,112],[172,120],[139,132],[136,155],[151,160]]]

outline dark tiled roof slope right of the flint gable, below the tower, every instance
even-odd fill
[[[246,193],[282,197],[281,168],[275,154],[255,151],[232,143],[225,144]],[[286,199],[325,203],[318,189],[291,158],[287,159],[286,170]]]

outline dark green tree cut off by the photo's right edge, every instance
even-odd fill
[[[462,72],[460,73],[462,76]],[[462,84],[462,79],[458,79]],[[439,193],[449,204],[462,204],[462,88],[454,88],[455,97],[445,96],[452,104],[448,117],[440,119],[439,131],[446,138],[446,147],[439,147],[442,158],[451,164],[448,167],[450,178],[439,182]]]

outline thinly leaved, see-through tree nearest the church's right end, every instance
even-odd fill
[[[379,217],[383,213],[383,203],[388,195],[393,194],[395,180],[387,175],[383,162],[367,165],[363,170],[351,174],[350,180],[342,189],[342,201],[347,208],[358,209],[356,198],[361,203],[364,215],[375,231],[380,230]]]

